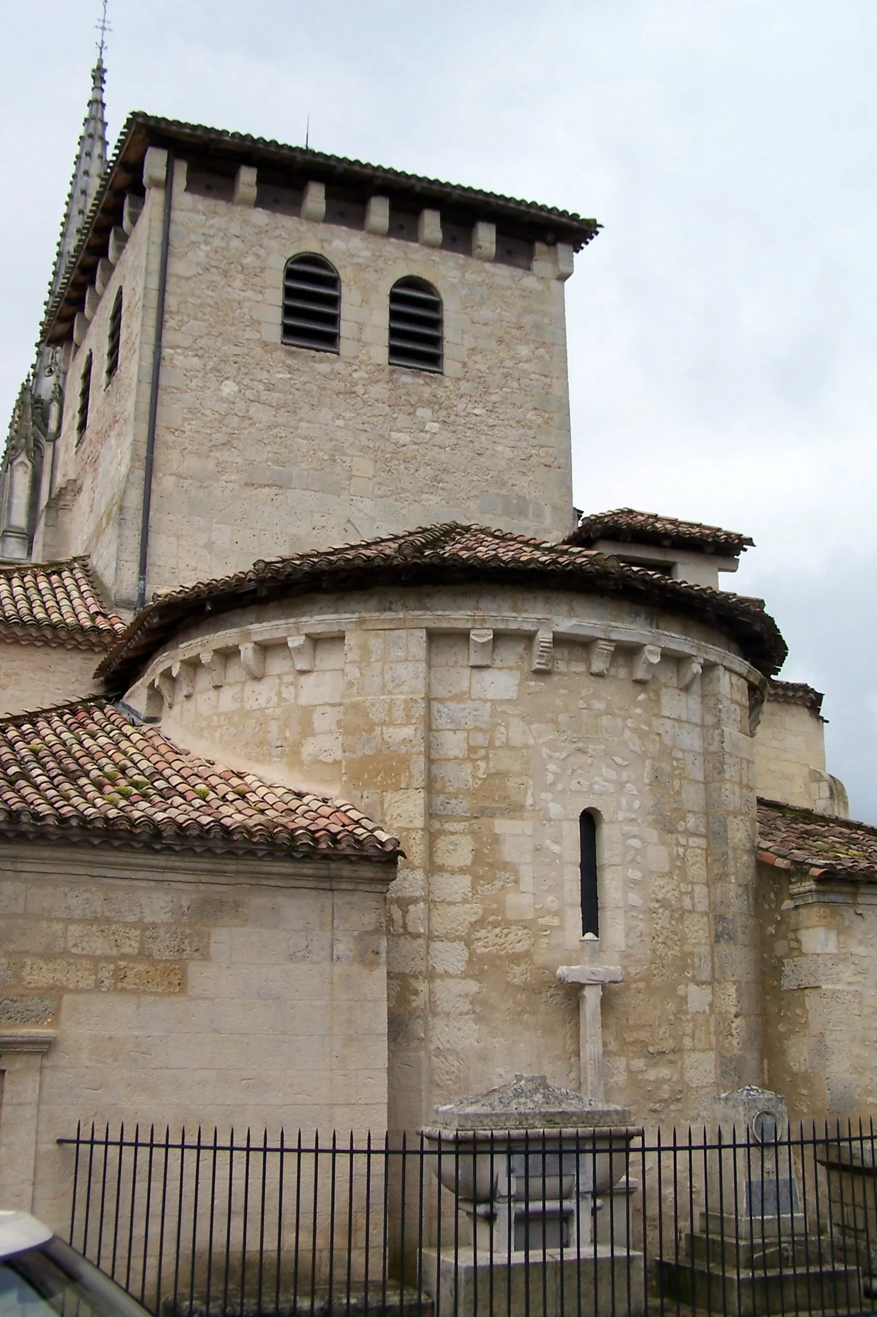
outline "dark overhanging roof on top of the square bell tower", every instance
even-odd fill
[[[491,220],[529,241],[568,242],[574,250],[597,237],[600,225],[569,211],[536,202],[482,192],[473,187],[442,183],[381,165],[327,155],[302,146],[286,146],[263,137],[229,133],[203,124],[157,119],[141,111],[122,126],[113,159],[83,225],[82,236],[67,266],[63,284],[51,298],[42,325],[46,342],[62,342],[70,335],[74,316],[82,309],[86,290],[93,282],[97,261],[107,253],[112,229],[121,224],[125,192],[140,183],[142,159],[149,146],[174,148],[191,157],[203,157],[211,171],[233,178],[240,165],[254,166],[259,176],[280,186],[304,182],[331,183],[350,196],[367,200],[375,194],[390,196],[408,211],[440,208],[450,223],[473,224]],[[407,203],[407,204],[406,204]]]

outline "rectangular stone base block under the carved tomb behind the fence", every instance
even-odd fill
[[[568,1250],[494,1256],[481,1250],[423,1250],[423,1287],[436,1317],[643,1317],[645,1285],[641,1252]]]

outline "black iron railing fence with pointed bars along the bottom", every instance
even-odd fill
[[[877,1310],[873,1126],[59,1142],[71,1243],[162,1317]]]

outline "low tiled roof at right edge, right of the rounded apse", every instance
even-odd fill
[[[877,827],[758,801],[758,859],[811,878],[877,881]]]

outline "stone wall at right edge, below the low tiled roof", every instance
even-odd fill
[[[868,1121],[877,1105],[877,902],[866,886],[790,882],[758,864],[765,1068],[795,1119]]]

